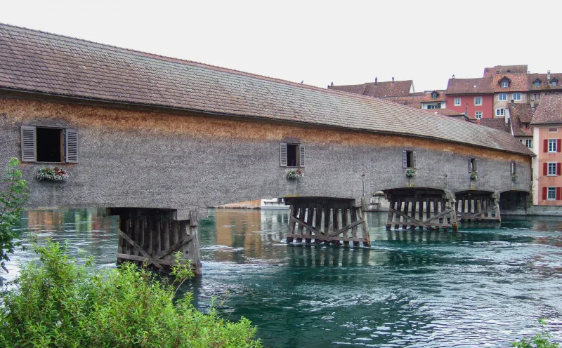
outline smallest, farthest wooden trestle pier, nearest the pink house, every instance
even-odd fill
[[[491,192],[459,192],[456,209],[461,221],[497,221],[499,214],[499,195]]]

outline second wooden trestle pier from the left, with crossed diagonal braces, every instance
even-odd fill
[[[367,216],[354,199],[304,197],[287,199],[290,204],[287,243],[330,243],[350,246],[371,246]],[[359,234],[359,227],[361,233]]]

